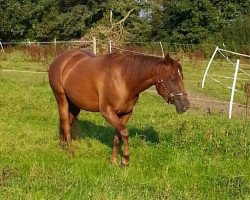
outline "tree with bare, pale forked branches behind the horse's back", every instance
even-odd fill
[[[144,33],[150,29],[140,15],[146,6],[145,2],[109,0],[103,6],[103,18],[91,28],[85,38],[95,36],[103,40],[112,40],[118,46],[124,41],[147,39]]]

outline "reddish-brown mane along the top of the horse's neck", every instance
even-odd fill
[[[148,77],[152,68],[163,62],[163,58],[134,53],[111,53],[106,59],[112,62],[112,66],[121,67],[123,76],[131,78]]]

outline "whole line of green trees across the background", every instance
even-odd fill
[[[0,0],[0,19],[2,41],[106,39],[121,31],[123,41],[250,44],[250,0]]]

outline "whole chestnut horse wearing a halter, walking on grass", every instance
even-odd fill
[[[126,124],[141,92],[155,85],[178,113],[190,107],[182,67],[169,54],[165,58],[126,52],[97,57],[87,51],[65,51],[53,60],[48,75],[58,107],[61,147],[66,141],[68,152],[74,153],[70,127],[81,109],[99,112],[116,129],[112,164],[117,164],[121,140],[121,164],[129,164]]]

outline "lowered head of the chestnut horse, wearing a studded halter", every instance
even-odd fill
[[[168,103],[175,105],[178,113],[183,113],[190,107],[190,102],[184,89],[181,65],[169,54],[161,65],[156,75],[156,90]]]

